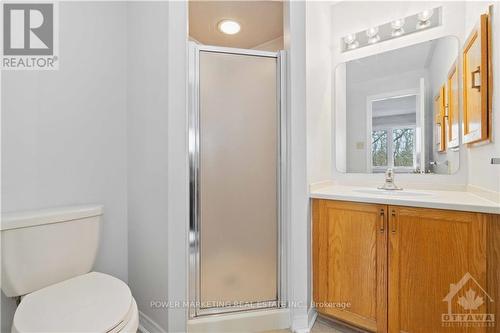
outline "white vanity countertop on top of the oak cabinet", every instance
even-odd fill
[[[311,189],[309,196],[317,199],[500,214],[500,203],[466,191],[383,191],[377,190],[376,187],[326,185]]]

